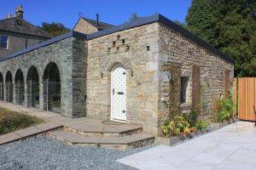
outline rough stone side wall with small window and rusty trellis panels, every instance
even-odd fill
[[[212,115],[213,99],[215,98],[215,96],[220,96],[224,94],[225,70],[231,71],[230,78],[233,77],[233,65],[227,62],[226,60],[218,57],[216,54],[212,54],[212,52],[201,47],[195,42],[190,41],[188,38],[183,37],[180,33],[173,31],[172,29],[162,24],[159,25],[159,36],[161,67],[165,65],[171,65],[172,62],[177,62],[182,67],[182,76],[193,77],[193,65],[199,66],[200,83],[196,83],[196,89],[194,86],[194,90],[197,91],[197,93],[194,93],[194,95],[198,94],[201,88],[205,88],[205,93],[201,94],[200,96],[200,98],[202,99],[202,109],[199,112],[201,112],[201,118],[210,121]],[[167,71],[161,72],[166,76],[170,74]],[[172,74],[174,73],[171,72],[171,76]],[[197,77],[198,76],[196,76],[196,78]],[[193,78],[189,78],[189,82],[191,81],[190,84],[192,86],[192,88],[189,88],[190,90],[193,89],[192,79]],[[170,112],[169,107],[165,105],[166,103],[168,103],[169,98],[166,97],[166,92],[163,90],[168,88],[169,86],[169,82],[160,82],[160,112],[162,112],[161,116],[159,117],[160,122],[162,122],[164,117],[168,116]],[[197,100],[196,105],[198,105],[199,102],[198,97],[199,96],[194,96],[194,99]],[[192,103],[188,105],[192,106]],[[186,107],[188,105],[186,105]]]

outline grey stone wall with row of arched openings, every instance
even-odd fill
[[[5,80],[8,71],[12,74],[13,87],[15,87],[15,74],[19,69],[23,73],[25,82],[25,102],[24,105],[29,106],[27,101],[27,84],[26,78],[29,69],[36,67],[39,75],[39,101],[40,109],[47,110],[47,97],[45,84],[43,83],[44,70],[49,63],[55,63],[60,72],[61,78],[61,113],[63,116],[84,116],[84,97],[73,100],[76,94],[84,96],[85,84],[85,63],[86,63],[86,44],[84,40],[77,40],[75,37],[69,37],[65,40],[55,42],[48,46],[35,49],[26,54],[21,54],[12,59],[0,62],[0,72]],[[78,70],[79,69],[79,70]],[[5,81],[3,81],[5,82]],[[4,84],[5,85],[5,84]],[[83,90],[81,90],[83,88]],[[15,92],[15,90],[14,90]],[[5,94],[5,89],[4,89]],[[13,93],[15,98],[15,93]],[[6,95],[4,95],[6,100]],[[15,104],[16,100],[14,100]]]

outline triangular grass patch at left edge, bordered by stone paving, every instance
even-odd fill
[[[28,116],[0,107],[0,135],[22,128],[32,127],[42,122],[44,122],[44,120],[38,117]]]

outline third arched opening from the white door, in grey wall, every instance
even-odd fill
[[[15,74],[15,102],[18,105],[24,105],[24,77],[19,69]]]

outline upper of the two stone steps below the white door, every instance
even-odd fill
[[[84,137],[122,137],[135,133],[143,132],[143,127],[129,124],[121,125],[104,125],[93,126],[87,124],[68,125],[64,127],[65,130],[71,133],[77,133]]]

